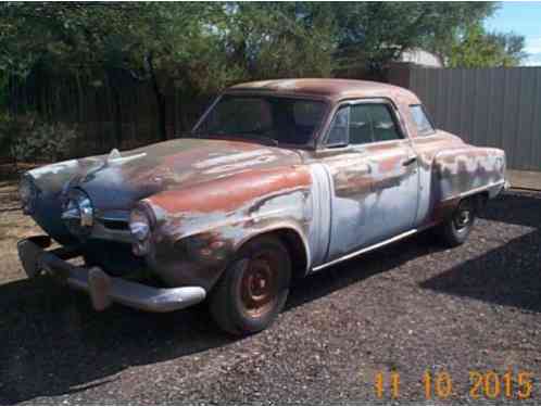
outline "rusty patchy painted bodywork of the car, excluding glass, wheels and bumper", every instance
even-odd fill
[[[32,170],[40,191],[34,218],[59,242],[73,241],[60,215],[67,191],[80,188],[96,208],[90,238],[130,244],[129,212],[140,207],[155,220],[143,253],[148,267],[167,285],[209,291],[242,244],[262,233],[287,234],[304,259],[298,272],[305,275],[437,225],[463,196],[493,198],[505,182],[503,151],[441,130],[418,135],[410,106],[420,101],[402,88],[287,79],[241,84],[226,93],[315,98],[329,109],[305,147],[193,133]],[[339,106],[374,99],[393,106],[403,139],[327,148],[325,135]],[[121,227],[110,228],[111,221]]]

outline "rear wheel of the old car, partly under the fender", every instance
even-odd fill
[[[451,218],[437,229],[442,243],[449,247],[463,244],[475,226],[476,214],[477,205],[474,198],[461,201]]]

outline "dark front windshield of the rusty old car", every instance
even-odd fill
[[[194,132],[303,145],[318,128],[325,106],[313,100],[226,94]]]

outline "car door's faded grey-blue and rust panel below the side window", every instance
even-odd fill
[[[332,260],[413,227],[417,211],[416,164],[408,140],[328,149],[313,160],[331,179],[330,247]]]

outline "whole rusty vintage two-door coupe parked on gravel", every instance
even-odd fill
[[[463,243],[504,170],[502,150],[436,129],[402,88],[237,85],[187,137],[27,171],[24,212],[47,234],[21,241],[20,257],[98,310],[207,298],[223,329],[246,334],[273,321],[294,277],[431,227]]]

